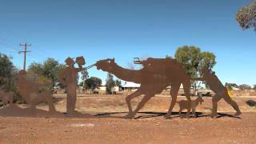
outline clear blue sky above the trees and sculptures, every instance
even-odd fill
[[[222,82],[256,84],[256,33],[242,30],[237,10],[250,0],[1,0],[0,52],[22,68],[20,42],[30,42],[30,62],[83,55],[87,66],[115,58],[174,56],[194,45],[217,56]],[[15,50],[15,51],[11,51]],[[106,79],[95,68],[90,76]]]

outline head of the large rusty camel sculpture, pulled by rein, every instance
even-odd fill
[[[95,66],[97,66],[98,70],[103,70],[103,71],[107,71],[107,72],[113,72],[115,65],[116,65],[116,63],[114,62],[114,58],[113,59],[111,59],[111,58],[103,59],[103,60],[96,62],[96,64],[95,64]]]

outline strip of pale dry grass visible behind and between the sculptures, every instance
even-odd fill
[[[58,111],[66,111],[66,95],[58,94],[54,95],[55,106]],[[77,98],[77,110],[82,113],[104,113],[104,112],[126,112],[126,94],[87,94],[78,95]],[[195,99],[196,97],[193,97]],[[137,106],[138,102],[142,99],[141,97],[134,98],[132,101],[133,109]],[[178,97],[178,101],[186,99],[185,97]],[[205,107],[211,107],[211,97],[204,97],[205,102],[202,105],[198,105],[197,111],[209,112]],[[250,107],[246,104],[247,100],[256,101],[256,97],[234,97],[234,101],[238,102],[238,106],[242,112],[256,112],[256,107]],[[169,109],[171,98],[169,96],[155,96],[151,98],[146,106],[141,111],[150,112],[166,112]],[[40,109],[47,109],[47,106],[38,106]],[[174,111],[178,111],[178,105],[174,106]],[[233,108],[228,105],[224,100],[218,102],[218,112],[234,112]]]

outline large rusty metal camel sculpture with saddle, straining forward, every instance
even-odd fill
[[[107,71],[114,74],[117,78],[128,82],[141,84],[138,90],[126,97],[129,113],[125,118],[134,118],[135,114],[138,113],[138,110],[141,110],[150,98],[155,94],[161,93],[167,86],[171,86],[170,95],[172,100],[166,118],[170,118],[181,84],[183,85],[186,98],[189,102],[191,101],[190,77],[186,74],[186,70],[183,69],[181,63],[178,63],[173,58],[148,58],[146,61],[137,61],[137,63],[143,65],[141,70],[128,70],[122,68],[114,62],[114,58],[101,60],[95,64],[98,70]],[[133,111],[130,105],[131,99],[142,94],[145,96]],[[190,109],[188,110],[188,114],[190,114]]]

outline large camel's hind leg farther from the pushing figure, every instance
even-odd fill
[[[174,105],[177,101],[177,95],[178,95],[178,90],[180,86],[181,86],[181,83],[175,83],[171,85],[171,89],[170,89],[171,102],[170,102],[170,108],[166,114],[166,118],[170,118],[171,112],[174,109]]]

